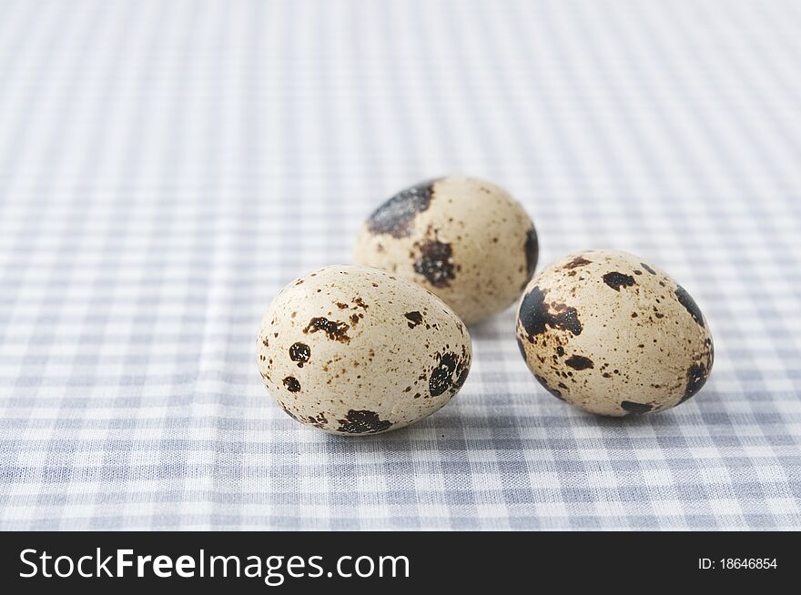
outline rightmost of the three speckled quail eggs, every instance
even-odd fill
[[[684,287],[626,252],[563,257],[526,287],[517,341],[555,397],[625,416],[674,407],[704,386],[712,335]]]

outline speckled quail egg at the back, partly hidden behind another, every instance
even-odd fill
[[[472,324],[520,298],[537,252],[532,219],[509,193],[451,176],[381,205],[361,227],[354,257],[430,289]]]

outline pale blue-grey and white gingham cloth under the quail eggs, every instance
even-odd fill
[[[289,419],[270,299],[447,173],[679,279],[704,390],[583,414],[510,309],[410,429]],[[0,528],[799,529],[799,443],[798,2],[0,2]]]

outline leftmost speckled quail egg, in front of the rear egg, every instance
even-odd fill
[[[467,378],[471,339],[440,298],[372,267],[332,266],[284,287],[261,320],[257,359],[290,417],[377,434],[430,415]]]

